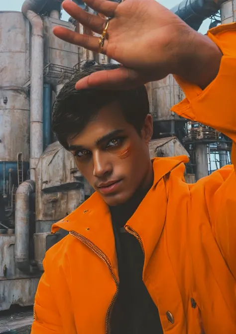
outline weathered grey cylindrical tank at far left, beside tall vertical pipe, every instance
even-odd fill
[[[29,97],[23,86],[30,75],[29,24],[21,12],[0,11],[0,33],[0,182],[5,183],[9,169],[14,178],[19,152],[24,174],[28,169]]]

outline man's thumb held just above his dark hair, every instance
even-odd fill
[[[76,89],[109,89],[126,90],[140,86],[145,83],[135,70],[125,67],[103,70],[92,73],[76,83]]]

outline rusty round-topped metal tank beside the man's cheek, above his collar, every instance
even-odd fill
[[[36,168],[36,221],[60,220],[83,201],[84,180],[73,155],[58,142],[49,145]]]

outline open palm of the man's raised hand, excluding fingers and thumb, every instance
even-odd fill
[[[124,0],[110,21],[105,52],[131,68],[152,68],[168,56],[174,41],[175,26],[182,24],[153,0]],[[132,13],[132,15],[130,15]],[[176,43],[174,41],[174,43]]]

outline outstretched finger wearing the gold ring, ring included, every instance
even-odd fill
[[[59,37],[66,42],[71,44],[82,46],[88,50],[99,52],[99,37],[80,34],[78,32],[72,31],[61,26],[55,26],[53,28],[53,33],[55,36]],[[104,47],[101,53],[106,54],[106,47],[108,41],[105,39]]]

